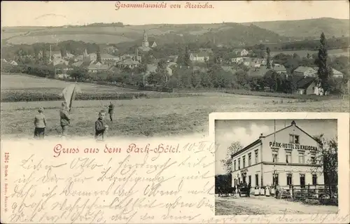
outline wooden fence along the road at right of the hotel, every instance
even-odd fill
[[[322,203],[337,204],[337,185],[306,185],[306,186],[283,186],[279,190],[278,198],[290,198],[293,200],[318,200]]]

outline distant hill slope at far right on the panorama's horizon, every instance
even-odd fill
[[[309,20],[246,22],[243,24],[268,29],[281,36],[319,38],[321,32],[324,32],[325,36],[349,36],[349,22],[350,20],[317,18]]]

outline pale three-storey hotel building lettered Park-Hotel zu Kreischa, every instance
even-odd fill
[[[323,169],[316,163],[321,145],[297,127],[291,125],[258,140],[232,155],[232,187],[244,181],[251,188],[272,186],[281,188],[324,184]]]

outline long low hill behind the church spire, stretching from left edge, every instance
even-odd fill
[[[1,38],[8,44],[57,43],[60,41],[84,41],[87,43],[140,43],[144,29],[158,43],[208,42],[222,45],[246,45],[262,42],[286,41],[287,38],[255,25],[239,23],[191,24],[191,25],[94,25],[67,27],[6,27]]]

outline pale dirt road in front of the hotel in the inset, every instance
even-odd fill
[[[274,197],[215,197],[216,215],[335,214],[338,207],[276,200]]]

